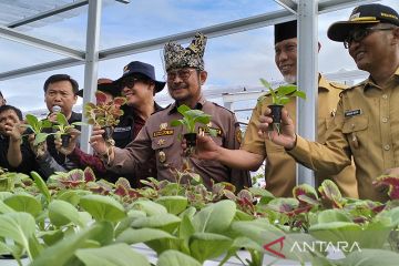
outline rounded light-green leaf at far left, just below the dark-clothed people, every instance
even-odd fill
[[[4,198],[3,202],[14,211],[29,213],[33,217],[37,217],[42,211],[41,203],[29,194],[14,194]]]

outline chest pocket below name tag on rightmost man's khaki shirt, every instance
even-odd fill
[[[344,121],[342,133],[347,136],[354,153],[367,147],[368,139],[370,137],[368,127],[368,116],[352,116]]]

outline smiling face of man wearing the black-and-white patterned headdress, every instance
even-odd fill
[[[206,80],[206,71],[184,68],[167,71],[167,89],[171,96],[178,101],[190,101],[198,99],[201,85]]]

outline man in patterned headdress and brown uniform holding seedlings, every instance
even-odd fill
[[[205,44],[206,37],[197,33],[186,49],[173,42],[165,45],[167,88],[175,103],[151,115],[137,137],[125,149],[106,146],[101,136],[103,131],[98,129],[93,131],[91,144],[99,154],[106,155],[110,170],[120,174],[130,173],[155,155],[157,178],[175,182],[176,176],[171,170],[184,168],[180,135],[185,132],[181,126],[173,127],[170,123],[182,119],[177,112],[177,106],[181,104],[212,115],[208,126],[217,132],[217,135],[213,137],[217,145],[227,149],[239,147],[241,131],[234,113],[202,96],[201,85],[207,78],[203,61]],[[203,129],[203,125],[196,126],[197,132]],[[247,171],[232,170],[218,162],[200,161],[195,157],[187,160],[194,171],[203,177],[208,188],[212,187],[212,181],[229,182],[237,190],[250,186],[250,176]]]

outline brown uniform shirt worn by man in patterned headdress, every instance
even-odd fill
[[[239,149],[241,131],[234,113],[203,98],[196,108],[212,115],[211,127],[217,131],[217,136],[213,140],[217,145],[231,150]],[[157,178],[176,182],[171,170],[182,170],[181,136],[185,133],[182,132],[182,126],[170,125],[171,121],[177,119],[182,119],[182,115],[175,104],[151,115],[133,142],[125,149],[115,147],[115,158],[109,165],[110,170],[121,174],[131,173],[137,165],[155,155]],[[196,125],[197,132],[203,129],[203,125]],[[216,161],[201,161],[193,157],[188,161],[208,188],[212,187],[211,180],[215,183],[229,182],[237,190],[250,186],[248,171],[232,170]]]

